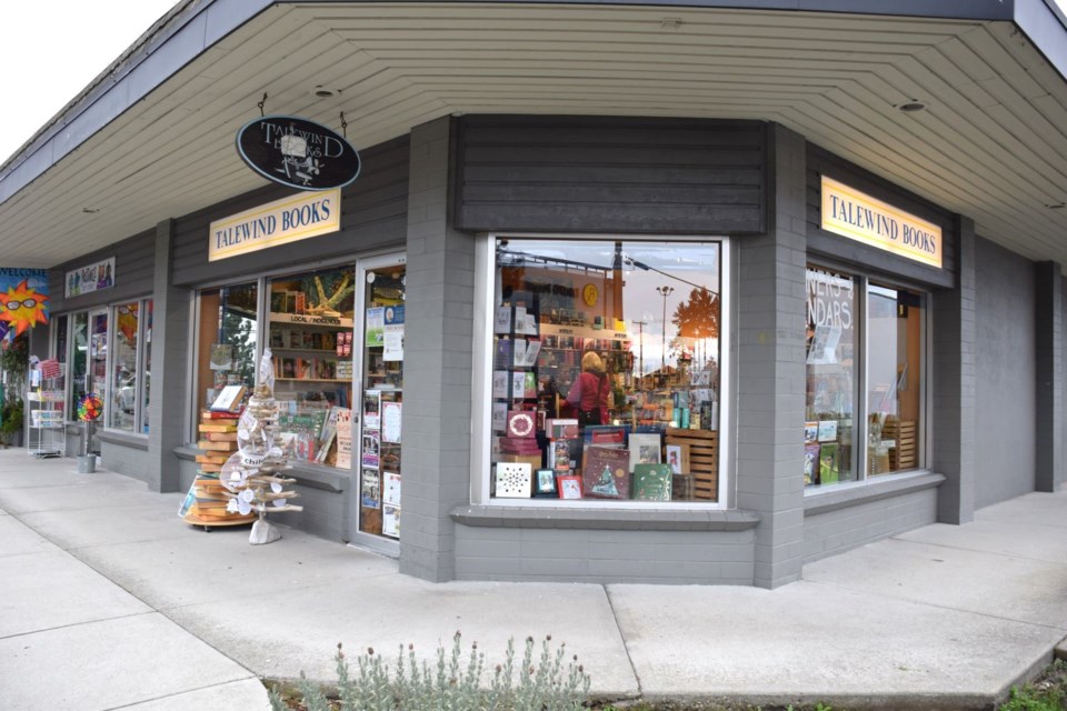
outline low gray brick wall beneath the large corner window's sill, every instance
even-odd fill
[[[456,578],[752,584],[752,531],[456,527]]]

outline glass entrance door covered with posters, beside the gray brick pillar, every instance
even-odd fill
[[[402,254],[365,259],[356,269],[356,368],[351,541],[387,553],[399,551],[401,410],[403,404]],[[358,423],[358,424],[356,424]]]

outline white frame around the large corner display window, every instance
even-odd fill
[[[496,242],[507,240],[559,240],[559,241],[616,241],[664,242],[664,243],[708,243],[719,247],[719,438],[718,438],[718,495],[717,501],[677,501],[665,504],[661,501],[580,500],[560,499],[508,499],[489,495],[492,477],[491,462],[491,418],[492,393],[492,350],[495,283],[497,279]],[[499,231],[478,236],[475,244],[475,308],[471,334],[471,438],[470,438],[470,503],[501,508],[560,509],[566,511],[716,511],[734,505],[736,475],[734,467],[734,417],[735,375],[732,369],[734,348],[734,293],[735,283],[731,239],[724,234],[632,234],[622,232],[512,232]]]

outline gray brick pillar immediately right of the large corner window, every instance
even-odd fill
[[[770,129],[769,227],[741,238],[737,507],[759,513],[754,583],[800,578],[804,561],[805,140]]]

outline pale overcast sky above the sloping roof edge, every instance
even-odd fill
[[[1067,8],[1067,0],[1056,0]],[[3,7],[0,163],[178,0],[38,0]]]

